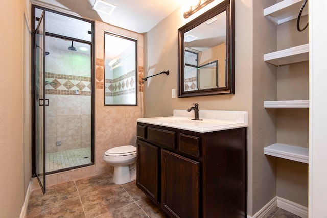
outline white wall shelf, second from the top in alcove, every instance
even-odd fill
[[[276,52],[264,54],[264,61],[275,66],[298,63],[309,60],[309,44],[290,47]]]

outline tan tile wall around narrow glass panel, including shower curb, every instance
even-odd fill
[[[48,185],[63,183],[83,177],[112,171],[113,167],[103,161],[106,150],[132,144],[136,146],[136,119],[143,117],[143,92],[138,92],[138,106],[104,106],[104,30],[137,39],[138,74],[143,77],[143,35],[103,22],[95,23],[95,164],[46,176]],[[139,86],[139,84],[136,84]],[[142,83],[141,83],[142,85]],[[138,90],[143,87],[139,86]],[[34,187],[38,188],[34,180]]]

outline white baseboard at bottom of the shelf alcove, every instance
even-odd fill
[[[281,197],[274,197],[265,206],[263,206],[252,217],[247,215],[247,218],[267,217],[276,207],[282,208],[302,218],[308,218],[308,207],[302,206],[295,202],[289,201]]]

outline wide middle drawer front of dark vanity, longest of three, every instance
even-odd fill
[[[147,139],[159,146],[166,146],[175,149],[176,132],[148,127]]]

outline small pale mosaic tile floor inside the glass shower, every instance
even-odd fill
[[[91,163],[91,148],[71,149],[45,154],[45,172]]]

